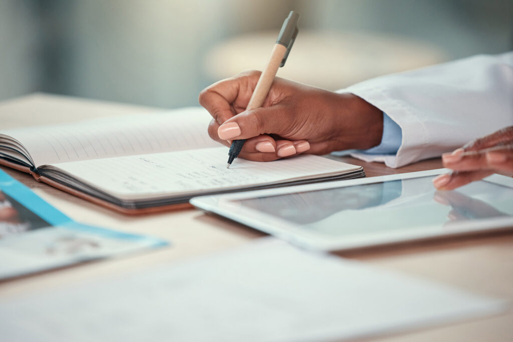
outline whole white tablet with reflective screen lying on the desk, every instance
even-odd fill
[[[446,169],[194,197],[196,208],[303,248],[346,250],[513,228],[513,178],[491,175],[452,191]]]

